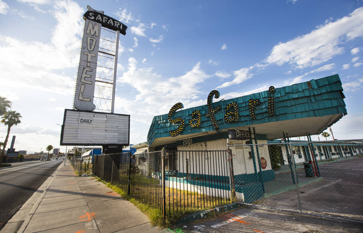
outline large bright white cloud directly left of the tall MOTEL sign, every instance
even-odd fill
[[[75,77],[59,73],[78,64],[83,13],[77,3],[57,1],[52,11],[57,24],[50,43],[0,35],[2,85],[73,95]]]

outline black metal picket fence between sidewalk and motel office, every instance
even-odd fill
[[[172,212],[231,202],[227,151],[157,151],[94,156],[93,173],[143,204]],[[77,162],[75,168],[78,168]]]

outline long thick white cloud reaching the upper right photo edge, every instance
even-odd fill
[[[329,35],[329,36],[326,36]],[[363,8],[335,22],[320,25],[309,34],[275,45],[267,64],[289,63],[295,68],[313,67],[344,52],[341,44],[363,36]]]

